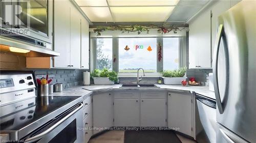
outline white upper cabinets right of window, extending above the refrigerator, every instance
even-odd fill
[[[212,68],[219,15],[240,1],[215,1],[189,22],[189,68]],[[212,17],[211,17],[212,14]]]

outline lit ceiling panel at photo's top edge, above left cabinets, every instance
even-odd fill
[[[107,7],[106,0],[75,0],[80,7]]]

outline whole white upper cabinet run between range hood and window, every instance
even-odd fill
[[[72,2],[54,1],[53,68],[89,69],[89,23]]]

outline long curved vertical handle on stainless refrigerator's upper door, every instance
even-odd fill
[[[217,33],[216,43],[215,43],[215,50],[214,50],[215,61],[214,61],[214,66],[212,67],[212,70],[214,73],[214,90],[215,90],[216,102],[217,102],[220,114],[223,113],[223,106],[221,103],[219,83],[218,83],[218,56],[219,56],[220,42],[221,42],[221,37],[223,35],[223,32],[224,32],[223,24],[220,24],[219,31]]]

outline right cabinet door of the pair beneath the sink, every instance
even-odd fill
[[[165,99],[141,99],[140,126],[165,127],[166,101]]]

